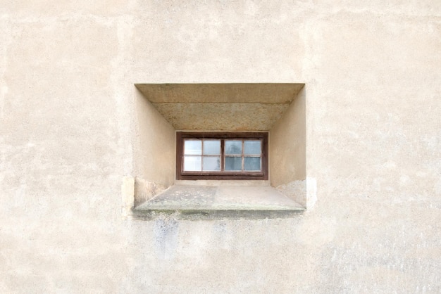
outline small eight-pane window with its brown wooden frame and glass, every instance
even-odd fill
[[[177,179],[268,179],[268,133],[176,133]]]

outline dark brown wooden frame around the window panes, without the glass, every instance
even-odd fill
[[[184,172],[184,139],[259,139],[262,141],[260,172]],[[221,165],[223,165],[224,143],[221,141]],[[176,179],[178,180],[268,180],[268,132],[176,132]]]

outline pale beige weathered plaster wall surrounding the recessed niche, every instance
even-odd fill
[[[0,0],[0,35],[1,293],[441,292],[441,1]],[[168,82],[305,83],[315,205],[123,220]]]

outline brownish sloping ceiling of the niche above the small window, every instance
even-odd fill
[[[268,131],[304,84],[135,84],[180,130]]]

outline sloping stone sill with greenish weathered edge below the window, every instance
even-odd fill
[[[196,181],[197,182],[197,181]],[[177,183],[133,210],[133,217],[153,219],[173,215],[178,219],[292,217],[304,207],[271,186],[205,185]],[[225,183],[225,184],[228,184]]]

